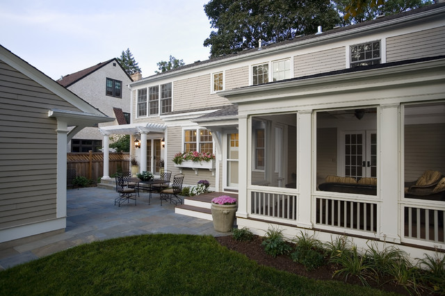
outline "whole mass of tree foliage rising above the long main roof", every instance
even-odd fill
[[[211,0],[204,5],[210,33],[204,47],[211,58],[243,49],[293,39],[298,35],[401,13],[432,3],[429,0]]]

